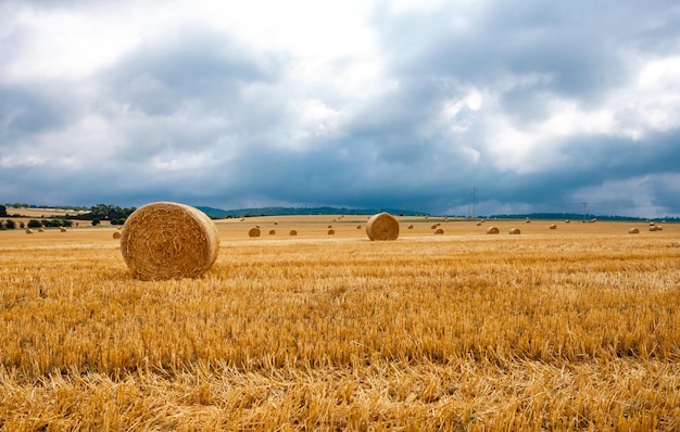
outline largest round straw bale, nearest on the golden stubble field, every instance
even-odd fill
[[[217,259],[215,224],[188,205],[156,202],[137,208],[125,221],[121,253],[141,280],[196,278]]]

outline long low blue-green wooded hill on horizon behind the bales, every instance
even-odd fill
[[[380,212],[388,212],[392,215],[417,216],[427,215],[406,209],[395,208],[345,208],[345,207],[260,207],[260,208],[237,208],[222,209],[206,206],[197,206],[196,208],[205,213],[215,219],[224,219],[228,217],[249,217],[249,216],[290,216],[290,215],[375,215]]]

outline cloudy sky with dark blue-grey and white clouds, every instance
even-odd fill
[[[0,0],[0,203],[680,215],[680,3]]]

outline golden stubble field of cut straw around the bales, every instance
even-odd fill
[[[366,219],[219,220],[161,282],[112,227],[0,231],[0,430],[680,429],[680,226]]]

